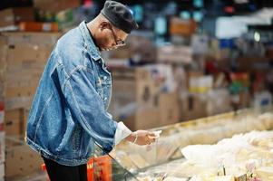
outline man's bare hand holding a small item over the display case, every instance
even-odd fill
[[[156,135],[147,130],[137,130],[126,138],[128,141],[134,142],[137,145],[150,145],[156,139]]]

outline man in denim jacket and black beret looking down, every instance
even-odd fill
[[[65,33],[44,68],[29,113],[26,142],[44,158],[51,181],[86,179],[93,143],[109,152],[122,139],[149,145],[155,135],[132,132],[107,113],[112,78],[100,51],[124,45],[138,25],[130,10],[106,1],[101,14]]]

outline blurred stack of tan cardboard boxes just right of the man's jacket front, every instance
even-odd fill
[[[110,112],[130,129],[151,129],[179,121],[176,91],[161,90],[147,67],[113,69]]]

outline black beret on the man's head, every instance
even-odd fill
[[[115,1],[106,1],[101,12],[114,26],[125,33],[131,33],[139,26],[134,21],[130,9]]]

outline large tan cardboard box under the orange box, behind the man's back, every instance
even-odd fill
[[[7,44],[2,56],[5,66],[3,73],[6,78],[6,71],[11,72],[14,79],[18,71],[44,71],[58,33],[5,33],[3,36]]]

